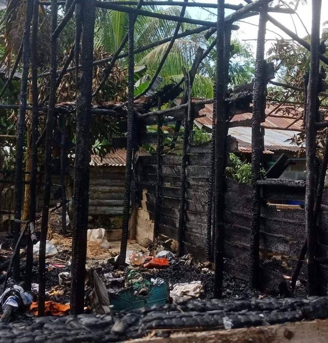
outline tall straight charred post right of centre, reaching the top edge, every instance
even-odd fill
[[[223,247],[224,247],[224,187],[226,169],[227,122],[224,110],[224,0],[217,2],[216,35],[216,91],[215,91],[215,273],[214,297],[222,297]]]

